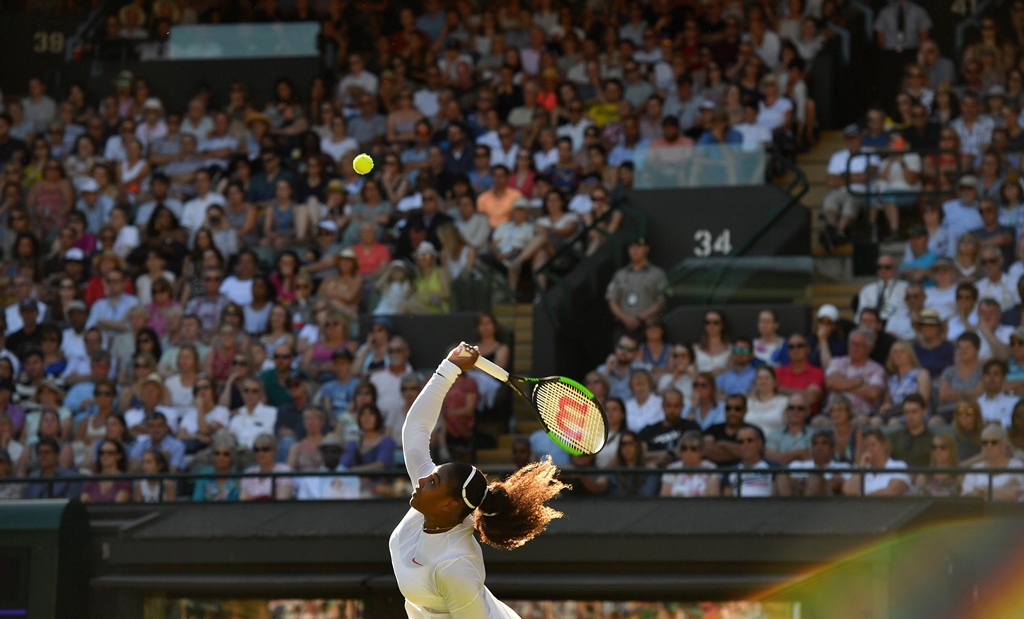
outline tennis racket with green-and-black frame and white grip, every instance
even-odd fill
[[[476,367],[508,383],[537,412],[541,424],[562,449],[570,454],[596,454],[608,438],[604,409],[590,389],[564,376],[527,378],[509,374],[483,357]]]

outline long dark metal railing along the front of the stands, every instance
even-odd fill
[[[479,468],[484,472],[492,476],[492,479],[499,479],[510,472],[513,472],[515,468],[508,466],[485,466],[481,465]],[[694,476],[715,476],[721,477],[723,479],[730,479],[735,477],[735,484],[731,484],[730,488],[735,489],[734,497],[742,497],[742,487],[743,478],[764,478],[765,476],[771,476],[774,480],[776,476],[840,476],[843,478],[848,478],[852,474],[859,474],[859,495],[864,495],[864,487],[868,474],[901,474],[911,478],[912,488],[912,478],[919,474],[933,476],[933,474],[946,474],[946,476],[957,476],[961,477],[963,481],[964,476],[986,476],[987,477],[987,488],[985,492],[985,498],[989,501],[993,500],[995,491],[995,478],[998,476],[1017,476],[1019,477],[1018,483],[1021,484],[1022,490],[1024,490],[1024,468],[994,468],[994,467],[965,467],[965,466],[947,466],[947,467],[933,467],[933,466],[908,466],[906,468],[885,468],[885,467],[870,467],[870,466],[852,466],[850,468],[834,468],[834,467],[812,467],[812,468],[788,468],[784,466],[767,466],[764,468],[741,468],[736,466],[723,466],[720,468],[665,468],[665,467],[563,467],[561,469],[561,477],[572,478],[572,477],[595,477],[595,476],[626,476],[626,477],[651,477],[651,476],[663,476],[663,474],[694,474]],[[294,501],[298,500],[294,497],[283,499],[278,497],[278,486],[282,484],[282,481],[287,481],[290,484],[296,483],[298,480],[303,478],[358,478],[361,481],[367,480],[387,480],[390,482],[391,486],[395,486],[395,483],[399,483],[404,486],[409,482],[408,473],[403,469],[382,469],[382,470],[360,470],[360,471],[256,471],[256,472],[245,472],[245,471],[229,471],[229,472],[217,472],[217,471],[190,471],[190,472],[175,472],[175,473],[161,473],[152,474],[145,472],[126,472],[122,474],[95,474],[95,476],[67,476],[67,477],[25,477],[25,478],[0,478],[0,488],[3,488],[10,484],[22,485],[28,488],[32,485],[45,485],[47,489],[47,497],[52,497],[55,486],[58,484],[82,484],[84,482],[120,482],[128,481],[146,481],[146,482],[159,482],[160,494],[159,498],[161,501],[164,500],[164,487],[165,482],[198,482],[202,480],[243,480],[243,479],[257,479],[257,480],[269,480],[270,481],[270,494],[269,496],[263,498],[260,497],[258,500],[269,500],[269,501]],[[404,489],[403,489],[404,490]],[[361,494],[358,498],[388,498],[394,496],[392,494]],[[784,498],[784,497],[783,497]],[[841,497],[830,496],[821,497],[834,500],[842,500]],[[935,496],[927,496],[923,498],[942,498]],[[354,497],[351,499],[340,499],[340,500],[356,500]],[[184,500],[184,497],[180,497],[177,502],[206,502],[206,501],[191,501]]]

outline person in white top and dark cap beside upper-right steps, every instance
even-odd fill
[[[868,174],[874,175],[879,160],[862,152],[861,130],[856,124],[843,130],[846,148],[833,154],[828,160],[829,192],[821,202],[821,214],[826,223],[826,235],[833,241],[845,241],[846,231],[857,218],[864,205]],[[859,195],[855,195],[859,194]]]

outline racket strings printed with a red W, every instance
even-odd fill
[[[561,381],[543,381],[535,388],[534,398],[548,429],[567,447],[588,454],[604,447],[604,415],[579,388]]]

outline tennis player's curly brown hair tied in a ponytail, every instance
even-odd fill
[[[452,466],[457,482],[453,484],[453,493],[462,501],[462,486],[473,467],[462,463]],[[466,488],[466,497],[476,507],[465,505],[462,517],[473,512],[473,528],[480,541],[502,550],[518,548],[547,529],[548,523],[562,518],[561,511],[545,504],[570,488],[557,477],[558,467],[552,464],[550,456],[523,466],[504,481],[487,484],[480,472]]]

